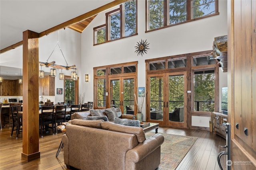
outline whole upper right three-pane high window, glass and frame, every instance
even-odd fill
[[[147,30],[218,15],[218,0],[147,0]]]

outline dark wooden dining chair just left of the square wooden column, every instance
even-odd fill
[[[11,137],[13,134],[13,131],[16,131],[16,139],[18,139],[18,135],[20,132],[22,132],[22,116],[19,115],[19,111],[20,111],[20,106],[10,106],[11,108],[11,113],[12,113],[12,133],[11,133]],[[14,129],[14,127],[16,127]]]

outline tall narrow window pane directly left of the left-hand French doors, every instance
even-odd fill
[[[106,107],[106,79],[97,80],[97,106]]]

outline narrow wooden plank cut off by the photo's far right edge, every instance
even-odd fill
[[[256,1],[252,1],[252,134],[256,134]],[[256,151],[256,135],[252,135],[252,149]]]

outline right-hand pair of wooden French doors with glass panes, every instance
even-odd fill
[[[187,127],[186,72],[148,75],[147,121]]]

